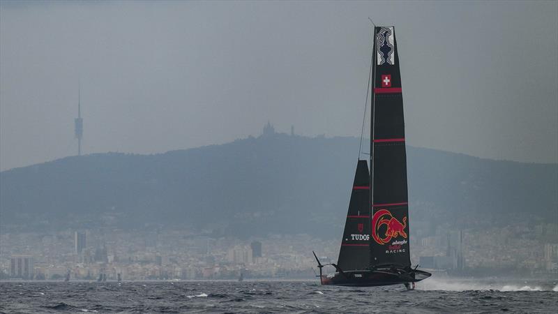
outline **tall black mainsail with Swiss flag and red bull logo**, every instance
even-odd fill
[[[370,264],[410,266],[405,123],[393,27],[375,27],[370,177]]]

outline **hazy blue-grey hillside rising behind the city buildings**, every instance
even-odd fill
[[[329,234],[344,223],[359,140],[273,134],[165,154],[92,154],[0,173],[3,230],[199,227]],[[558,165],[407,148],[412,221],[556,219]]]

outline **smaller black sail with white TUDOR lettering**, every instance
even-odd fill
[[[349,201],[338,266],[343,271],[367,269],[370,248],[370,180],[368,163],[359,160]]]

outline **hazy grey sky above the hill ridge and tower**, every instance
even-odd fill
[[[276,130],[359,136],[371,28],[395,25],[407,143],[558,162],[558,2],[0,4],[0,168]],[[358,149],[358,148],[356,148]]]

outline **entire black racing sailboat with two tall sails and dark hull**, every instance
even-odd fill
[[[370,109],[370,169],[356,165],[349,211],[337,264],[322,264],[322,285],[380,286],[407,289],[431,276],[412,267],[409,255],[407,156],[401,75],[393,27],[374,27]],[[335,272],[322,274],[326,265]]]

